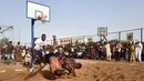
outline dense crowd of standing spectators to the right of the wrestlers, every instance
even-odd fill
[[[99,41],[60,45],[56,50],[61,49],[65,55],[76,59],[142,62],[143,45],[141,41]]]

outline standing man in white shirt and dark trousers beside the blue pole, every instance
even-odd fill
[[[45,39],[47,39],[47,36],[42,34],[41,38],[39,38],[34,41],[34,44],[35,44],[34,45],[34,55],[31,59],[30,70],[31,70],[37,57],[38,57],[38,59],[40,59],[42,61],[43,47],[47,45]]]

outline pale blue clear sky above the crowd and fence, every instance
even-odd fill
[[[0,26],[13,26],[7,31],[14,42],[30,42],[31,20],[25,17],[27,0],[1,0]],[[91,36],[99,27],[107,27],[109,32],[144,27],[144,0],[30,0],[50,6],[51,20],[45,24],[37,21],[34,37],[42,33],[52,39]]]

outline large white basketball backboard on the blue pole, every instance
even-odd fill
[[[38,20],[39,16],[45,16],[45,21],[50,22],[50,7],[27,1],[27,18]]]

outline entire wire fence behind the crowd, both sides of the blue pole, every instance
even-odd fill
[[[124,31],[117,31],[117,32],[107,32],[106,39],[107,40],[120,40],[120,41],[127,41],[127,33],[133,33],[132,41],[141,40],[144,41],[144,28],[138,29],[131,29],[131,30],[124,30]],[[10,40],[13,40],[13,31],[6,31],[4,33],[1,33],[1,38],[9,38]],[[63,42],[71,43],[71,42],[88,42],[89,39],[92,39],[94,42],[100,41],[100,37],[97,34],[93,36],[79,36],[79,37],[68,37],[68,38],[61,38],[56,39],[56,44],[61,44],[62,40]],[[48,44],[53,44],[53,40],[47,40]],[[17,44],[17,42],[14,42]],[[30,47],[30,42],[21,42],[22,45]]]

